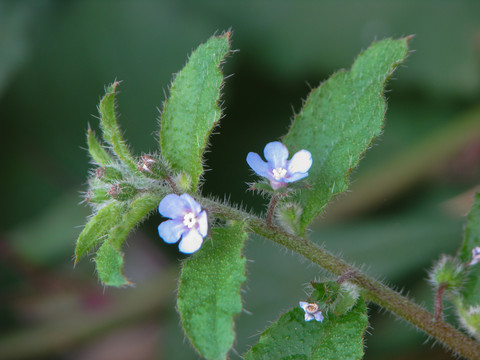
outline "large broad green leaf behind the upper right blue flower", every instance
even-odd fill
[[[408,54],[408,38],[371,45],[350,71],[339,71],[313,90],[283,139],[291,153],[306,149],[313,165],[309,189],[300,189],[301,229],[333,196],[348,188],[348,175],[381,133],[385,82]]]

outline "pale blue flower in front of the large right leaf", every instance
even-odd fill
[[[288,149],[281,142],[268,143],[263,150],[265,159],[260,155],[250,152],[247,155],[247,163],[258,175],[266,177],[273,189],[286,187],[291,183],[308,176],[308,170],[312,166],[312,154],[307,150],[300,150],[288,159]]]

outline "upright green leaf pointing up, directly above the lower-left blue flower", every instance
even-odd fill
[[[164,104],[160,119],[162,155],[173,170],[191,176],[191,190],[197,187],[203,173],[203,152],[221,117],[220,65],[229,51],[229,32],[200,45],[176,75]]]

